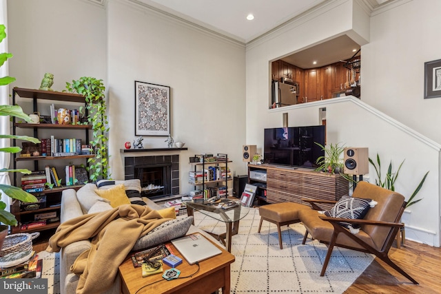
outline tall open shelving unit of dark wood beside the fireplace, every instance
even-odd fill
[[[47,101],[58,101],[63,103],[63,105],[68,104],[72,105],[72,107],[79,104],[85,105],[85,97],[79,94],[65,93],[65,92],[52,92],[52,91],[42,91],[42,90],[34,90],[34,89],[24,89],[19,87],[14,87],[12,90],[12,104],[16,105],[17,96],[20,96],[22,99],[30,98],[32,99],[32,103],[34,105],[34,112],[39,112],[39,107],[50,107]],[[45,101],[46,103],[41,103]],[[86,114],[87,115],[87,114]],[[17,130],[23,129],[23,132],[33,131],[33,134],[26,134],[28,136],[33,136],[34,138],[41,138],[43,135],[41,134],[42,130],[50,130],[55,131],[59,130],[59,132],[63,131],[63,138],[81,138],[83,144],[89,144],[89,132],[92,129],[91,125],[58,125],[52,123],[19,123],[15,121],[15,118],[12,118],[12,132],[14,135],[17,134]],[[57,131],[55,131],[57,132]],[[47,136],[47,134],[45,134]],[[17,146],[18,140],[13,140],[12,145]],[[72,141],[73,142],[73,141]],[[65,160],[65,162],[61,162],[59,167],[57,167],[57,173],[59,173],[60,178],[63,178],[63,169],[65,167],[65,163],[70,160],[79,160],[81,164],[88,164],[88,158],[92,158],[94,154],[81,154],[81,150],[78,152],[70,152],[65,153],[66,156],[53,156],[55,154],[48,154],[47,156],[32,156],[32,157],[20,157],[17,154],[13,156],[13,169],[17,169],[17,165],[23,165],[25,162],[33,162],[34,163],[34,171],[43,171],[45,170],[45,165],[49,165],[47,160],[50,162],[59,162],[58,160]],[[41,151],[43,154],[43,151]],[[44,160],[41,162],[41,160]],[[63,164],[64,163],[64,164]],[[60,167],[63,167],[61,168]],[[21,179],[17,179],[17,173],[13,174],[13,184],[14,186],[21,187]],[[19,200],[14,200],[11,205],[11,212],[14,214],[15,218],[19,222],[17,227],[11,227],[12,233],[29,233],[33,231],[44,231],[48,229],[56,229],[60,221],[56,220],[60,216],[61,209],[61,194],[65,189],[79,189],[83,185],[64,185],[62,182],[61,187],[53,187],[53,189],[49,189],[45,187],[43,191],[32,193],[35,196],[41,196],[41,199],[44,199],[44,204],[36,204],[37,209],[30,209],[29,207],[21,207],[21,203]],[[41,189],[41,188],[39,188]],[[43,201],[41,201],[43,203]],[[56,217],[52,217],[51,221],[46,222],[41,227],[32,227],[35,224],[36,220],[43,217],[43,215],[48,216],[48,214],[56,214]],[[31,223],[33,222],[32,226]],[[26,229],[26,224],[28,224],[28,228]],[[23,225],[24,229],[21,229],[21,225]]]

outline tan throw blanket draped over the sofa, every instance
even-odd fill
[[[124,204],[101,213],[85,214],[60,224],[46,251],[91,238],[90,250],[76,258],[71,271],[81,274],[76,293],[102,293],[112,286],[118,266],[136,240],[170,218],[147,206]]]

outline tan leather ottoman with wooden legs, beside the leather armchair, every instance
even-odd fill
[[[258,233],[260,233],[260,227],[262,227],[263,220],[276,224],[278,231],[278,243],[280,245],[280,249],[283,249],[280,226],[300,222],[300,219],[298,218],[298,211],[301,209],[311,209],[311,207],[294,202],[274,203],[259,207],[260,224]]]

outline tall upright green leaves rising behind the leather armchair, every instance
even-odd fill
[[[371,165],[373,165],[376,174],[377,174],[377,178],[375,180],[375,183],[377,186],[389,189],[391,191],[395,191],[395,182],[398,178],[398,175],[400,174],[400,169],[404,163],[404,160],[402,160],[402,162],[400,163],[400,166],[398,167],[397,171],[393,171],[392,168],[392,160],[389,162],[389,166],[387,167],[387,173],[384,176],[384,179],[382,178],[382,174],[381,174],[381,160],[380,160],[380,156],[377,153],[377,158],[376,158],[376,163],[373,162],[373,160],[371,158],[369,158],[369,163]],[[427,175],[429,174],[429,171],[427,171],[426,174],[424,174],[424,176],[422,177],[422,179],[420,180],[420,183],[418,184],[418,186],[416,187],[415,191],[413,191],[413,193],[411,194],[411,196],[409,197],[409,200],[407,200],[407,204],[406,207],[410,207],[413,204],[416,204],[417,202],[420,202],[422,200],[422,198],[413,201],[413,198],[415,198],[416,194],[418,194],[418,192],[420,191],[422,185],[424,184],[424,181],[427,178]]]

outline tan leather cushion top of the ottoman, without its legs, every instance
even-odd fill
[[[275,222],[289,222],[291,220],[298,220],[298,211],[302,209],[311,210],[306,205],[294,202],[282,202],[267,204],[259,207],[259,214],[268,220]]]

